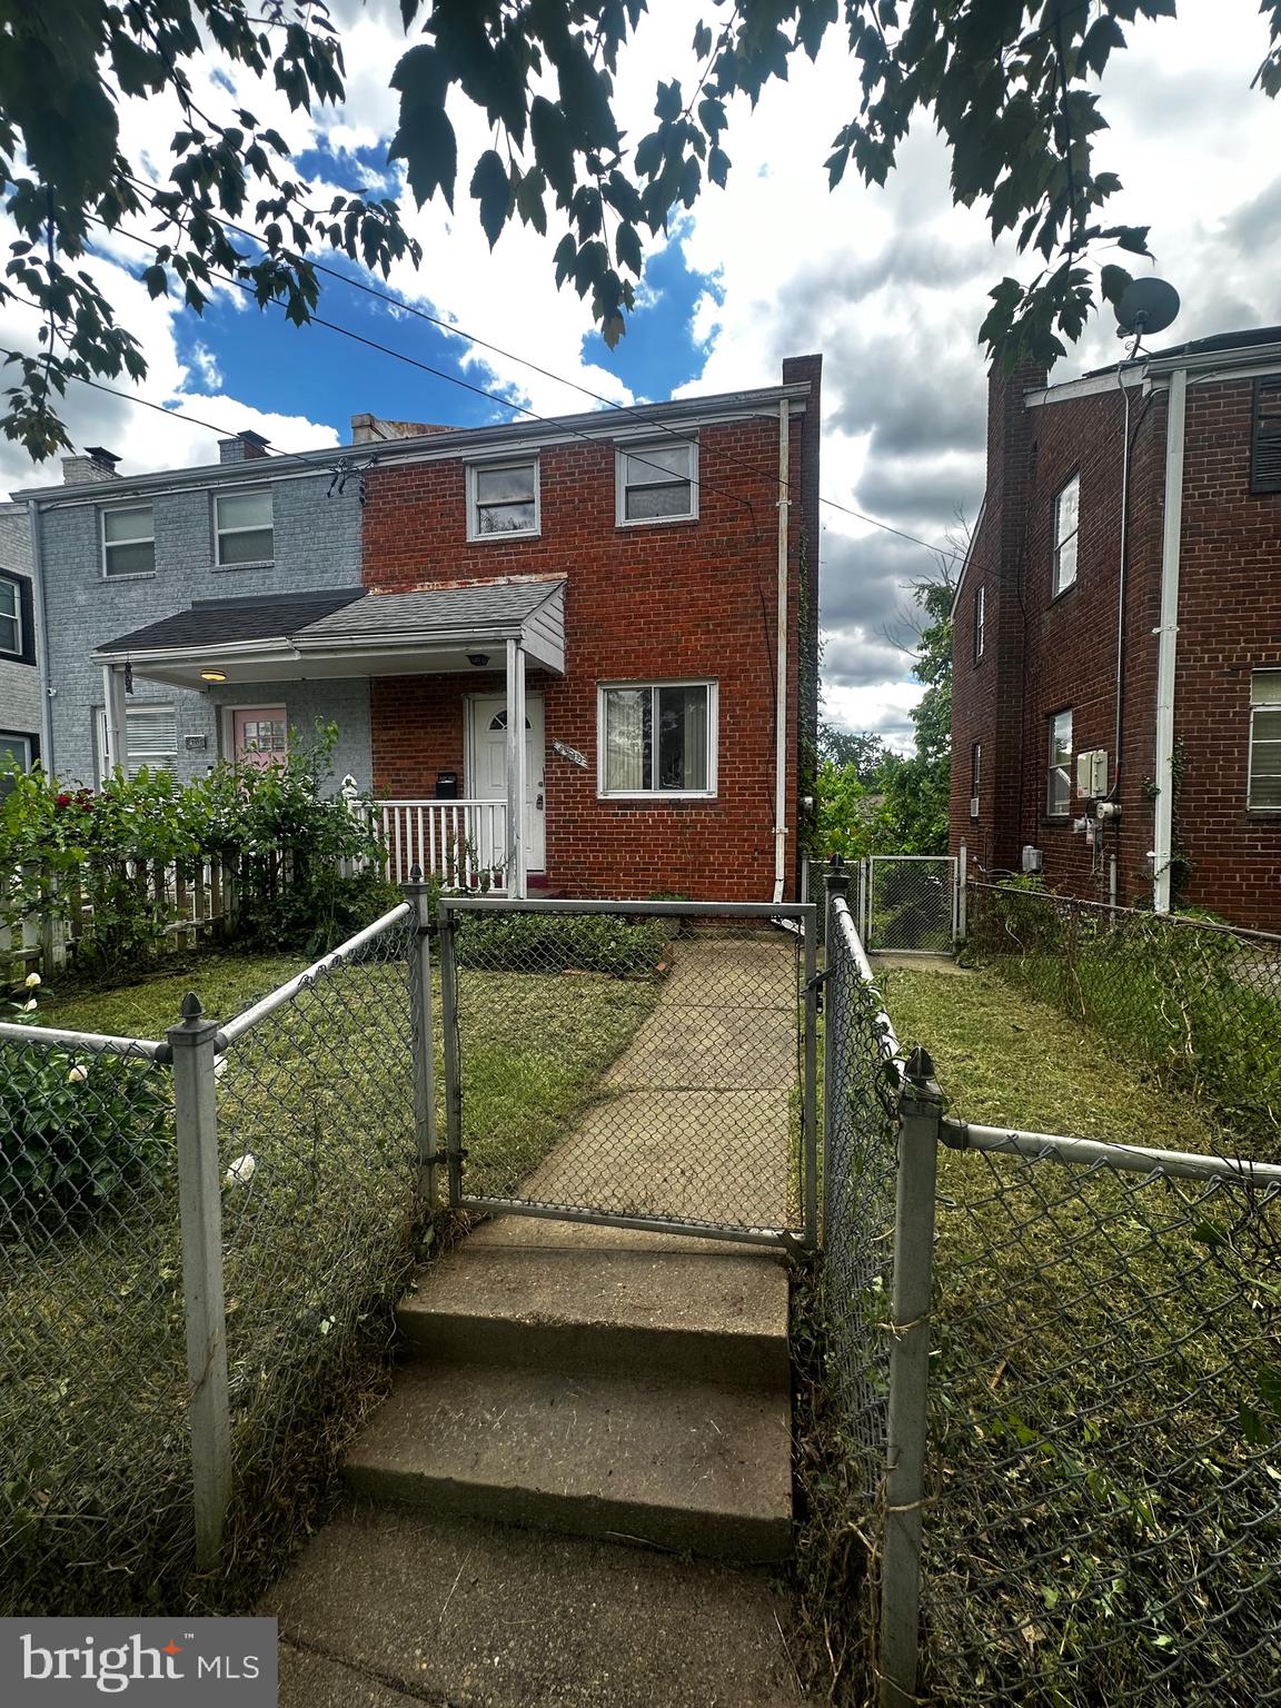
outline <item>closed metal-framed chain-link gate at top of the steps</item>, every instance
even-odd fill
[[[813,905],[444,897],[439,926],[453,1206],[813,1243]]]

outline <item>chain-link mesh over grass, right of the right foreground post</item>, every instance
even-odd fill
[[[939,1705],[1281,1701],[1281,1187],[941,1155]]]

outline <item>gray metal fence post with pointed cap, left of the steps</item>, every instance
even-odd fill
[[[222,1551],[231,1501],[231,1399],[227,1312],[222,1291],[222,1180],[219,1168],[219,1028],[200,997],[183,997],[181,1023],[169,1027],[173,1052],[178,1209],[183,1228],[183,1317],[191,1383],[191,1489],[196,1568],[210,1571]]]

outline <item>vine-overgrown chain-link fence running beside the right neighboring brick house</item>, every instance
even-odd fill
[[[1209,1098],[1228,1148],[1281,1161],[1281,938],[975,883],[967,953]]]

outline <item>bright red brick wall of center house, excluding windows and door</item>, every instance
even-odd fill
[[[820,359],[786,362],[782,377],[811,388],[804,415],[794,413],[789,425],[784,716],[786,895],[793,897],[803,793],[798,760],[808,750],[815,719]],[[540,535],[519,541],[468,541],[461,458],[391,465],[367,477],[367,586],[401,593],[521,576],[565,577],[565,675],[531,670],[528,680],[528,690],[543,695],[547,719],[543,881],[560,893],[724,900],[772,895],[777,410],[707,422],[697,437],[697,519],[640,528],[615,521],[610,439],[548,442],[540,449]],[[716,798],[600,798],[598,687],[680,680],[717,683]],[[430,798],[437,770],[456,770],[466,793],[466,697],[502,688],[502,675],[492,670],[376,680],[376,789],[393,798]],[[559,757],[553,741],[586,755],[588,769]]]

